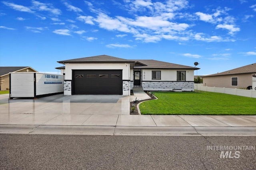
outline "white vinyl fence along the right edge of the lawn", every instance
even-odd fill
[[[206,92],[217,92],[217,93],[225,93],[232,94],[236,96],[244,96],[249,98],[256,98],[256,90],[244,90],[237,88],[220,88],[220,87],[208,87],[203,86],[202,84],[194,84],[194,90],[202,90]]]

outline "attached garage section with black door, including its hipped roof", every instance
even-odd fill
[[[134,61],[99,55],[58,63],[65,65],[64,95],[130,95],[130,69]]]

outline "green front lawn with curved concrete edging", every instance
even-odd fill
[[[214,92],[154,92],[140,104],[143,115],[256,115],[256,98]]]

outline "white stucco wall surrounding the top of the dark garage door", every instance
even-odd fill
[[[122,79],[130,80],[129,63],[66,63],[65,79],[72,80],[72,70],[122,70]]]

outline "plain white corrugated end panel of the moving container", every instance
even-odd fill
[[[34,97],[34,73],[10,73],[10,97],[32,98]]]

